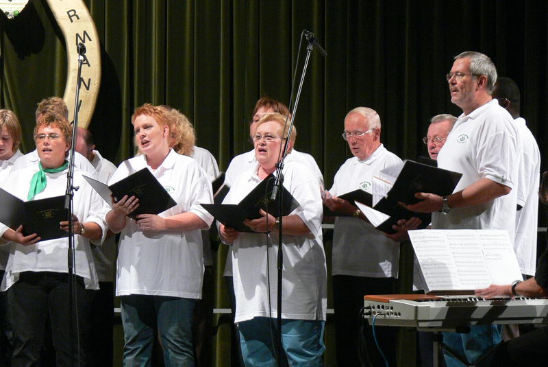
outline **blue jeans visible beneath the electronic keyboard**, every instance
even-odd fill
[[[501,342],[501,333],[497,325],[475,325],[470,333],[443,333],[443,343],[453,349],[469,363],[475,364],[491,348]],[[444,352],[447,367],[465,366],[455,357]]]

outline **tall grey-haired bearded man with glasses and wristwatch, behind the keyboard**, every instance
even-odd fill
[[[462,109],[438,154],[438,167],[462,173],[449,196],[417,193],[423,199],[407,209],[432,213],[434,229],[503,229],[514,241],[516,187],[521,141],[512,116],[493,100],[495,64],[484,54],[466,51],[455,56],[446,75],[451,102]],[[471,327],[466,334],[444,333],[444,342],[461,359],[475,364],[500,342],[496,327]],[[445,355],[448,367],[462,366]]]

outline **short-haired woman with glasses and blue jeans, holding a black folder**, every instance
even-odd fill
[[[276,170],[284,144],[285,122],[285,116],[271,113],[257,123],[252,137],[258,164],[236,178],[225,203],[240,202]],[[293,143],[290,141],[289,146]],[[290,366],[322,366],[327,274],[320,189],[314,175],[297,162],[285,164],[284,187],[299,206],[282,218],[282,344]],[[271,325],[277,317],[279,221],[273,215],[261,213],[260,219],[244,222],[253,233],[238,233],[234,228],[219,226],[221,238],[233,248],[235,322],[246,366],[270,366],[275,359],[276,331]]]

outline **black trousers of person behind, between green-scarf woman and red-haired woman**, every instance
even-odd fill
[[[114,283],[99,282],[99,290],[93,292],[90,308],[89,367],[112,366],[114,340]]]

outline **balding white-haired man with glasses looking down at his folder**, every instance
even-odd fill
[[[402,164],[400,158],[382,145],[380,135],[381,121],[375,110],[358,107],[347,114],[343,139],[353,157],[337,171],[333,187],[325,191],[323,200],[332,211],[347,215],[336,217],[332,253],[338,366],[361,366],[358,315],[363,296],[393,293],[398,276],[399,244],[375,230],[350,202],[338,198],[356,189],[372,193],[373,176],[382,178],[383,169]],[[395,333],[396,329],[378,328],[378,338],[390,366],[395,366]],[[372,365],[384,364],[370,328],[364,337]]]

